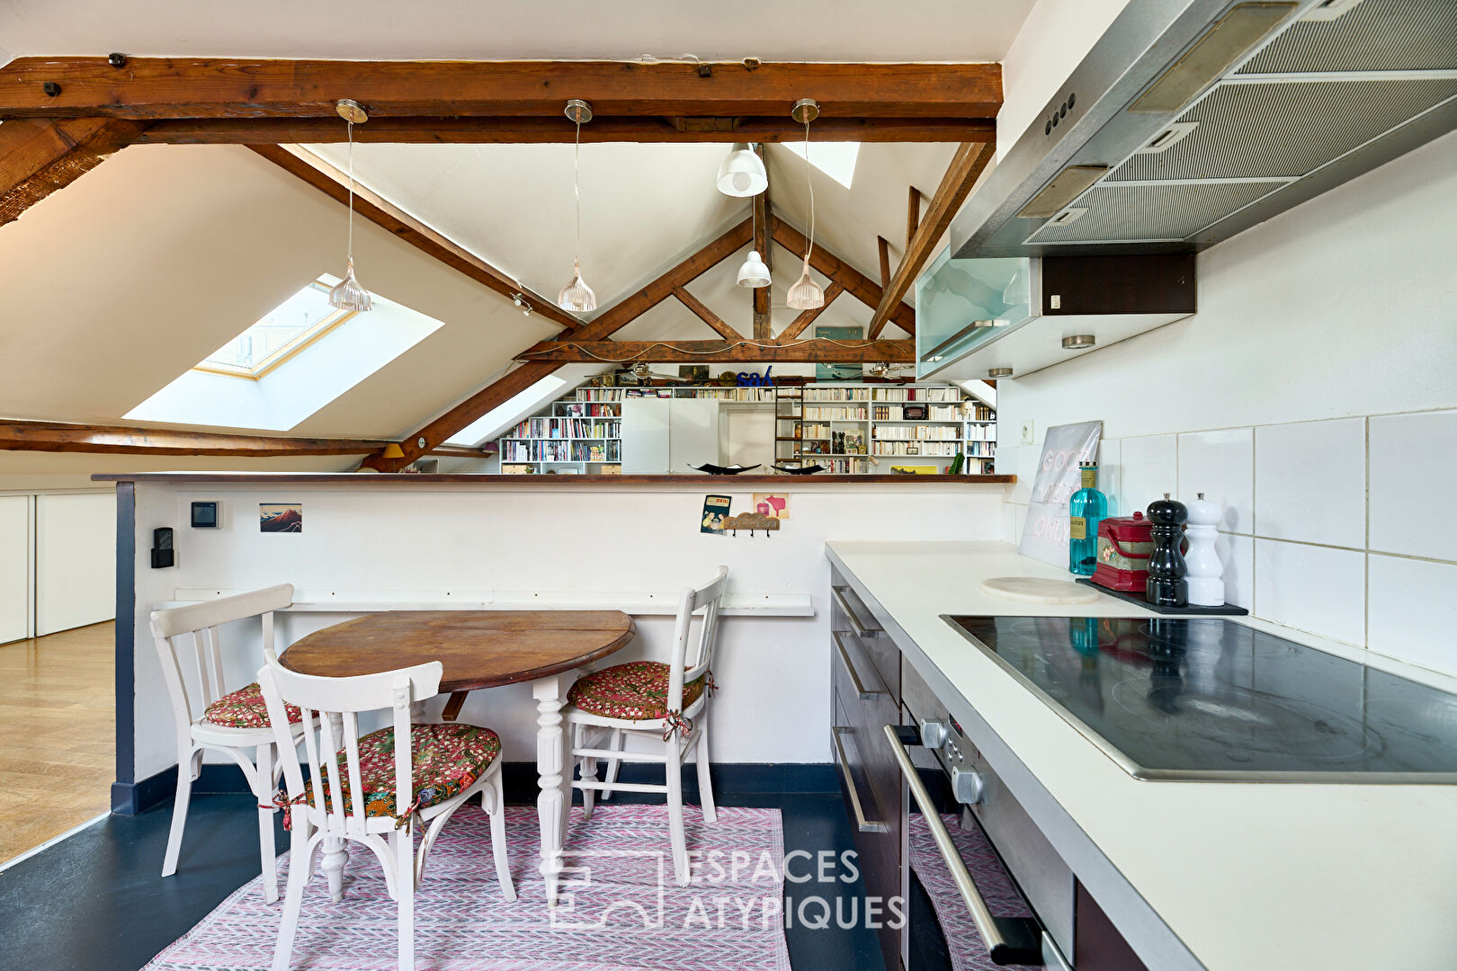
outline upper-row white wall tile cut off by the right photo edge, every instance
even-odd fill
[[[1371,549],[1457,560],[1457,517],[1412,523],[1412,499],[1457,482],[1457,411],[1371,418]]]

